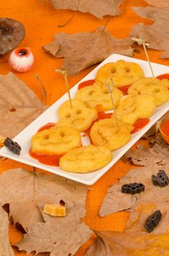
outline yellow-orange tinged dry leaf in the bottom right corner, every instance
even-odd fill
[[[146,219],[157,210],[162,212],[160,224],[152,233],[147,233],[144,228]],[[98,235],[109,246],[112,255],[168,256],[168,221],[168,203],[157,197],[157,203],[138,203],[134,206],[124,232],[99,232]]]

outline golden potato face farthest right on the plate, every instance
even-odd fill
[[[137,82],[133,83],[128,89],[128,94],[149,94],[154,96],[156,105],[162,105],[169,99],[169,91],[165,86],[162,86],[164,81],[157,78],[141,78]]]

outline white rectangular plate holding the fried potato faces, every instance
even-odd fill
[[[85,78],[83,78],[79,83],[82,83],[82,81],[84,81],[84,80],[95,79],[96,72],[98,71],[98,69],[100,67],[103,66],[103,64],[106,64],[106,63],[109,63],[109,62],[115,62],[115,61],[118,61],[119,59],[123,59],[125,61],[132,61],[132,62],[135,62],[135,63],[139,64],[141,66],[141,68],[144,70],[144,74],[145,74],[146,77],[152,76],[152,74],[150,72],[150,69],[149,69],[149,64],[147,63],[147,61],[141,61],[139,59],[134,59],[134,58],[130,58],[130,57],[127,57],[127,56],[122,56],[122,55],[119,55],[119,54],[112,54],[111,56],[109,56],[109,58],[107,58],[100,65],[98,65],[98,67],[96,67],[92,72],[90,72],[90,74],[88,74]],[[169,67],[164,66],[164,65],[152,63],[152,68],[153,68],[154,74],[156,76],[161,75],[161,74],[165,74],[165,73],[169,73]],[[74,86],[71,89],[71,97],[72,98],[76,94],[79,83],[77,83],[76,86]],[[106,171],[109,170],[109,168],[112,165],[114,165],[119,160],[119,158],[122,157],[122,155],[125,154],[127,152],[127,150],[131,146],[133,146],[135,144],[135,142],[137,140],[139,140],[145,134],[145,132],[147,132],[149,130],[149,128],[151,128],[152,125],[155,124],[169,110],[169,101],[165,102],[165,104],[156,108],[156,110],[154,111],[153,115],[150,118],[149,124],[147,124],[146,127],[141,129],[139,132],[136,132],[135,134],[133,134],[129,143],[127,143],[122,148],[119,148],[119,150],[114,151],[113,159],[111,160],[109,165],[106,165],[102,169],[96,170],[92,173],[84,173],[84,174],[68,173],[68,172],[65,172],[63,170],[60,170],[60,167],[53,167],[53,166],[49,166],[49,165],[43,165],[43,164],[39,163],[38,160],[36,160],[34,158],[31,158],[28,154],[28,151],[31,147],[31,138],[32,138],[32,136],[44,124],[47,124],[49,122],[57,122],[57,120],[58,120],[58,113],[57,113],[58,111],[57,110],[60,107],[60,105],[63,102],[65,102],[67,99],[68,99],[68,95],[64,94],[63,97],[58,99],[57,102],[55,102],[50,108],[48,108],[44,113],[42,113],[41,116],[36,118],[36,120],[34,120],[30,125],[28,125],[28,127],[23,129],[23,131],[20,132],[20,134],[18,134],[14,138],[14,141],[19,143],[21,148],[22,148],[20,156],[12,154],[12,152],[10,152],[8,150],[8,148],[6,148],[6,147],[1,148],[0,155],[3,156],[3,157],[8,157],[10,159],[14,159],[17,162],[23,162],[27,165],[31,165],[31,166],[38,167],[38,168],[43,169],[43,170],[47,170],[51,173],[58,174],[59,176],[70,178],[71,180],[78,181],[78,182],[83,183],[83,184],[91,185],[91,184],[94,184],[95,181],[98,181],[98,179],[101,178],[101,176],[103,176],[103,174],[106,173]],[[83,145],[84,144],[86,145],[87,142],[88,142],[88,139],[83,138]]]

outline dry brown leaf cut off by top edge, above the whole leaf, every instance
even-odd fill
[[[103,18],[105,15],[119,15],[119,5],[122,0],[50,0],[55,9],[78,10],[88,12],[95,17]]]

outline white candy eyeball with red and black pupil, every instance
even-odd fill
[[[34,55],[28,47],[16,48],[9,56],[9,64],[17,72],[26,72],[34,64]]]

